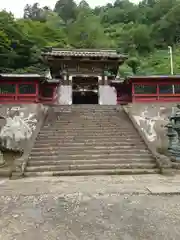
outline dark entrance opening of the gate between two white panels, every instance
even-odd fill
[[[72,103],[73,104],[98,104],[98,78],[73,77]]]

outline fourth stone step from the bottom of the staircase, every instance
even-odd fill
[[[31,156],[29,157],[29,160],[60,160],[60,159],[68,159],[68,160],[90,160],[90,159],[113,159],[113,158],[119,158],[119,159],[133,159],[133,158],[143,158],[143,159],[151,159],[152,155],[150,153],[113,153],[113,154],[62,154],[59,153],[58,155],[51,155],[51,156]]]

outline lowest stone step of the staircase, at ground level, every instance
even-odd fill
[[[100,170],[70,170],[54,172],[25,172],[25,177],[44,177],[44,176],[90,176],[90,175],[138,175],[138,174],[157,174],[159,169],[100,169]]]

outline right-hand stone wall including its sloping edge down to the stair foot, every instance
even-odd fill
[[[157,160],[162,173],[173,174],[172,162],[166,156],[168,137],[166,124],[169,116],[177,110],[176,103],[136,103],[124,106],[133,125]]]

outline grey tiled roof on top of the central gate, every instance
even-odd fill
[[[123,58],[125,55],[117,53],[116,50],[98,50],[98,49],[57,49],[52,48],[42,53],[44,56],[59,57],[100,57],[100,58]]]

